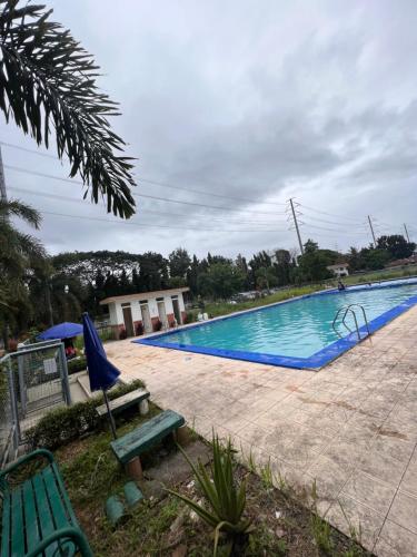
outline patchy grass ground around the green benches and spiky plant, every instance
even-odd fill
[[[160,410],[150,404],[150,416]],[[118,421],[118,433],[140,424],[147,417],[135,417],[129,422]],[[172,556],[209,557],[212,555],[212,530],[200,519],[193,518],[178,498],[161,491],[139,505],[128,521],[116,529],[105,515],[105,504],[111,495],[121,495],[128,481],[109,449],[110,434],[99,431],[56,451],[73,509],[85,530],[92,551],[100,556]],[[167,448],[156,448],[142,458],[147,468],[166,458]],[[171,446],[170,450],[175,450]],[[254,468],[258,468],[252,462]],[[286,488],[274,487],[270,466],[260,476],[246,467],[238,467],[241,479],[247,477],[247,516],[252,518],[255,531],[250,534],[245,556],[357,556],[367,554],[351,540],[327,525],[300,499]],[[193,499],[200,498],[198,488],[190,480],[166,487]],[[277,511],[278,515],[277,515]],[[173,551],[178,551],[175,554]],[[182,550],[182,553],[181,553]],[[224,554],[225,546],[224,546]]]

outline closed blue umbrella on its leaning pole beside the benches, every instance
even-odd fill
[[[101,390],[105,397],[111,431],[116,439],[115,420],[110,412],[107,389],[117,382],[120,371],[107,359],[102,342],[88,313],[82,314],[82,325],[85,335],[85,352],[87,358],[88,375],[90,378],[90,390]]]

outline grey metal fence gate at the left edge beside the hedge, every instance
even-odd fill
[[[0,377],[1,459],[7,442],[24,441],[24,432],[52,407],[71,403],[63,343],[19,346],[0,360]]]

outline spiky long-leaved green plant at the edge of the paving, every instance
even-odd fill
[[[230,439],[222,447],[218,436],[214,433],[212,461],[210,463],[211,477],[200,461],[198,461],[197,466],[193,465],[181,447],[179,449],[192,469],[206,506],[199,505],[177,491],[168,491],[181,499],[215,529],[214,555],[216,556],[220,532],[226,532],[234,545],[238,538],[252,530],[251,519],[244,517],[246,478],[240,481],[240,485],[237,481],[236,463],[234,461],[235,451]]]

